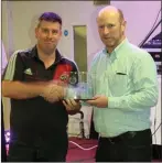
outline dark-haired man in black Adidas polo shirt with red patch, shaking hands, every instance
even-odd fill
[[[37,44],[17,51],[9,61],[2,95],[11,98],[10,162],[66,159],[68,111],[78,111],[80,104],[62,100],[66,74],[77,67],[57,51],[61,35],[61,17],[45,12],[35,29]]]

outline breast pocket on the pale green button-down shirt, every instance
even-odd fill
[[[109,75],[109,88],[112,96],[119,97],[127,94],[128,75],[125,72],[116,72]]]

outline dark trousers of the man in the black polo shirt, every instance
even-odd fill
[[[66,134],[64,139],[43,140],[37,138],[34,143],[12,140],[9,146],[9,162],[65,162],[68,149]]]

